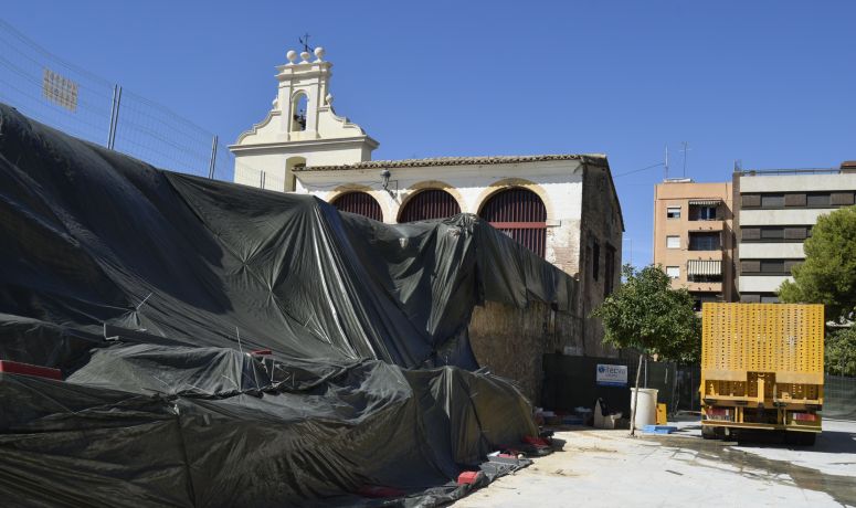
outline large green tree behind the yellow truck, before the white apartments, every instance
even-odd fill
[[[828,319],[856,307],[856,207],[821,215],[805,241],[805,262],[779,288],[782,301],[824,304]]]

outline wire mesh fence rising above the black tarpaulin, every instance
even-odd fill
[[[3,20],[0,102],[66,134],[155,167],[233,181],[234,156],[213,133],[63,61]],[[243,165],[237,170],[245,176],[244,181],[283,189],[271,174]]]

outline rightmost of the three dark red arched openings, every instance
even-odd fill
[[[539,256],[547,244],[547,209],[535,192],[511,188],[492,195],[478,214],[494,227]]]

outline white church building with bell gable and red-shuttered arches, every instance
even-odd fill
[[[604,155],[372,160],[378,141],[334,110],[324,50],[286,57],[267,116],[229,147],[235,182],[314,194],[385,223],[477,214],[579,281],[575,338],[554,349],[609,352],[588,318],[621,272],[624,224]]]

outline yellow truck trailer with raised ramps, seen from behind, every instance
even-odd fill
[[[701,435],[785,432],[814,444],[823,408],[823,305],[704,304]]]

